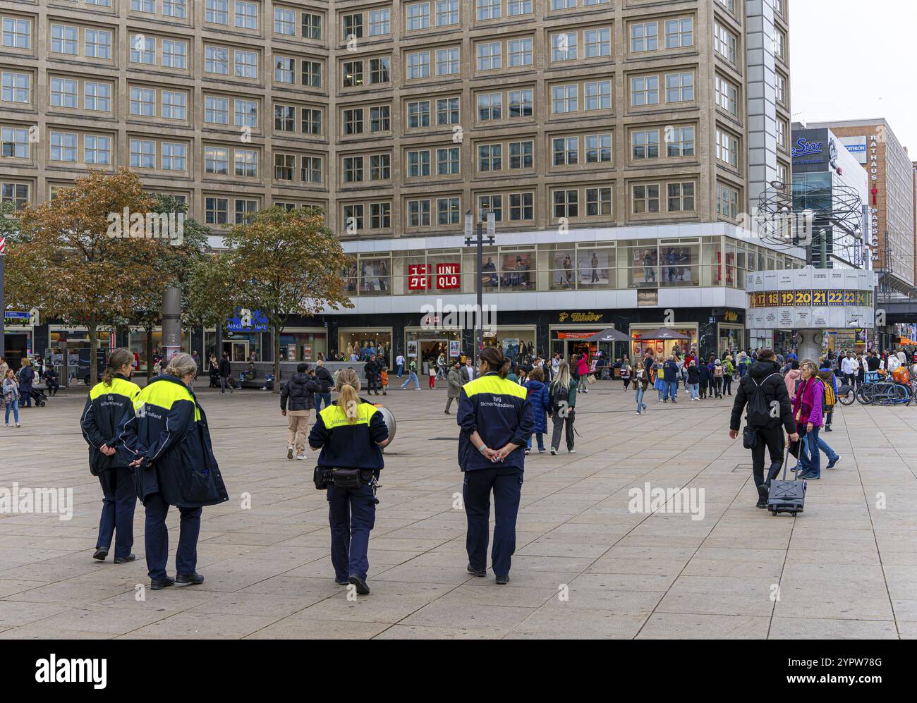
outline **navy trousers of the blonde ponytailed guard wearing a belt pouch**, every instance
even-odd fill
[[[335,578],[338,581],[346,581],[351,576],[366,578],[370,570],[367,558],[370,531],[376,524],[376,500],[372,487],[369,484],[359,489],[329,486],[327,498],[331,564],[335,567]]]

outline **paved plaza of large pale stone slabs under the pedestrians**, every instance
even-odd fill
[[[258,390],[199,392],[230,494],[204,508],[204,584],[149,590],[140,505],[138,560],[95,562],[102,494],[83,393],[0,428],[0,489],[73,489],[69,521],[0,515],[0,637],[917,637],[917,407],[838,406],[824,437],[843,460],[809,483],[794,519],[755,508],[750,455],[727,437],[731,398],[676,407],[647,394],[636,417],[619,382],[596,384],[580,395],[577,453],[525,463],[512,580],[497,587],[465,572],[446,390],[392,390],[372,593],[354,601],[333,581],[314,456],[286,459],[278,397]],[[646,484],[697,489],[685,505],[698,510],[646,512],[629,495]],[[169,525],[174,554],[174,509]]]

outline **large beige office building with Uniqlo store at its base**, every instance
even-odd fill
[[[469,330],[426,329],[421,310],[474,302],[465,214],[487,212],[485,344],[569,354],[604,327],[667,323],[704,350],[743,346],[745,272],[804,263],[738,227],[790,182],[788,13],[785,0],[4,0],[0,196],[40,202],[86,168],[127,166],[185,199],[215,246],[260,208],[320,205],[355,257],[355,307],[293,321],[284,360],[470,351]],[[257,325],[220,344],[271,354]]]

